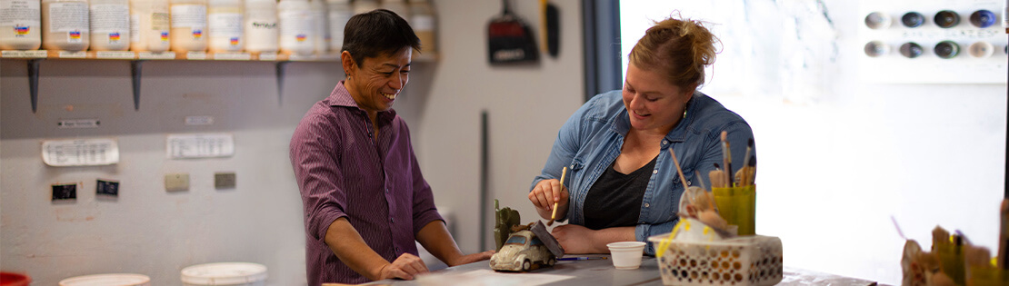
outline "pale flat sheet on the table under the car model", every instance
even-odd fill
[[[510,286],[510,285],[543,285],[561,280],[574,278],[574,276],[553,275],[553,274],[533,274],[533,273],[506,273],[494,272],[492,270],[480,269],[462,273],[432,273],[417,277],[417,282],[421,285],[486,285],[486,286]]]

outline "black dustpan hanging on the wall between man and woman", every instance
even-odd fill
[[[512,13],[509,0],[501,1],[504,10],[487,24],[487,59],[491,64],[508,62],[536,62],[540,52],[529,25]]]

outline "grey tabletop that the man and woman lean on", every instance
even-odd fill
[[[567,256],[571,257],[571,256]],[[595,255],[589,257],[608,257]],[[365,285],[662,285],[658,261],[645,257],[641,267],[618,270],[610,260],[558,261],[554,267],[526,273],[494,272],[486,261],[449,267],[417,280],[382,280]],[[874,286],[874,281],[785,267],[778,285]]]

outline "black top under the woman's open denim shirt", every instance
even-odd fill
[[[609,165],[585,195],[585,228],[602,230],[637,226],[645,188],[652,178],[658,157],[630,174],[618,172],[613,165]],[[615,160],[613,163],[616,163]]]

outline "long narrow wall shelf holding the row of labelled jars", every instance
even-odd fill
[[[66,51],[66,50],[2,50],[0,58],[21,59],[185,59],[185,60],[232,60],[232,61],[339,61],[340,54],[336,52],[325,54],[299,55],[284,52],[150,52],[150,51]],[[434,62],[438,60],[435,54],[419,53],[414,57],[418,62]]]

